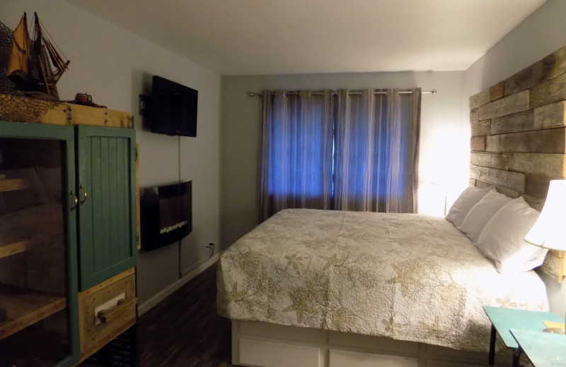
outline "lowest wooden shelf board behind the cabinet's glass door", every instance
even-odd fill
[[[66,306],[67,299],[64,296],[0,285],[0,308],[8,313],[8,318],[0,323],[0,339],[33,325]]]

